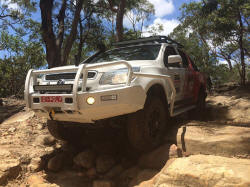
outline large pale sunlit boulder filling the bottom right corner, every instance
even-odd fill
[[[164,167],[146,186],[250,186],[250,160],[212,155],[177,158]]]

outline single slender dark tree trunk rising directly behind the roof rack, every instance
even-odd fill
[[[125,13],[126,0],[121,0],[116,16],[116,40],[117,42],[123,39],[123,17]]]

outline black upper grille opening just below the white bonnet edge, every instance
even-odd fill
[[[96,72],[90,71],[88,72],[88,78],[94,78]],[[48,74],[45,76],[45,80],[60,80],[60,79],[75,79],[76,73],[56,73],[56,74]],[[81,75],[80,78],[82,78]]]

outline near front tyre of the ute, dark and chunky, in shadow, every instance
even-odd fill
[[[168,120],[164,104],[160,97],[150,97],[143,110],[128,117],[128,139],[137,151],[150,151],[162,142]]]

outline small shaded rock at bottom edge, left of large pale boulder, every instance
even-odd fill
[[[152,170],[152,169],[144,169],[140,171],[132,181],[130,181],[128,186],[136,186],[140,184],[143,181],[147,181],[154,177],[159,171],[158,170]]]

